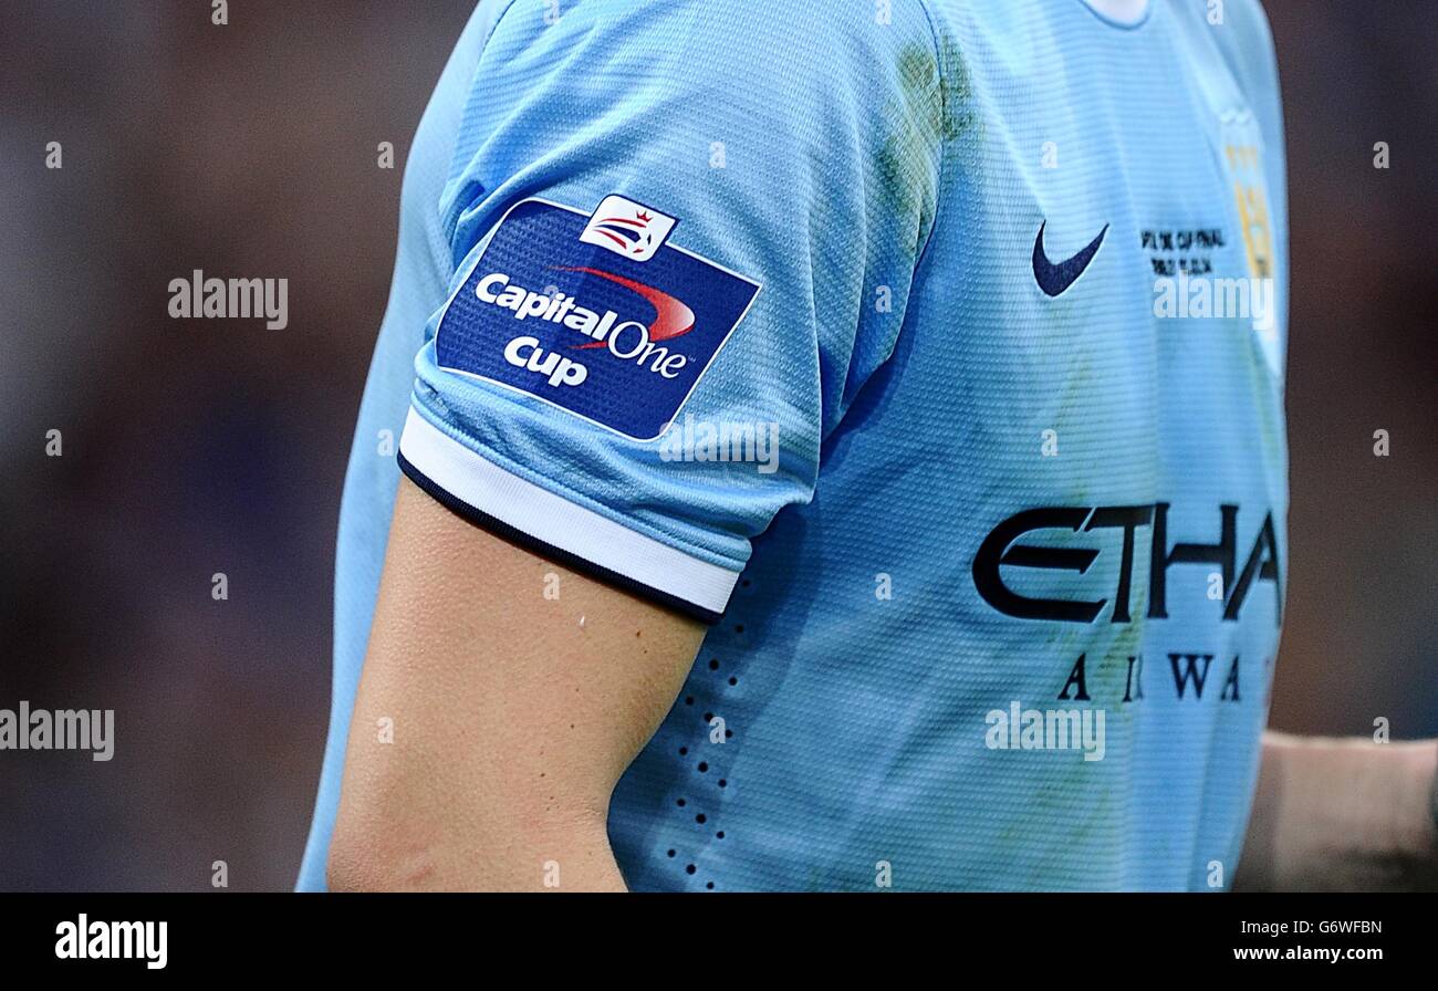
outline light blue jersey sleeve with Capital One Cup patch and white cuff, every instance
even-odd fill
[[[936,213],[917,3],[513,3],[439,203],[400,443],[454,512],[713,621],[812,498]]]

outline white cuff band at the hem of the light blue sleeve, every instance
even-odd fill
[[[400,453],[460,502],[529,536],[656,591],[723,613],[738,571],[569,502],[463,446],[411,406]]]

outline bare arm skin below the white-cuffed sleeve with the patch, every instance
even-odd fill
[[[558,600],[544,594],[546,575],[558,575]],[[703,633],[464,522],[401,479],[331,887],[623,890],[610,794]],[[378,742],[384,718],[391,744]]]

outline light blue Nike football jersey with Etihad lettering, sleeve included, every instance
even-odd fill
[[[1225,887],[1286,223],[1252,0],[480,3],[404,177],[299,886],[404,470],[713,624],[614,794],[631,887]]]

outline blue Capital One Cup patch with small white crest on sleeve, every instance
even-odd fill
[[[657,440],[761,288],[669,245],[677,223],[618,196],[515,204],[440,318],[439,367]]]

